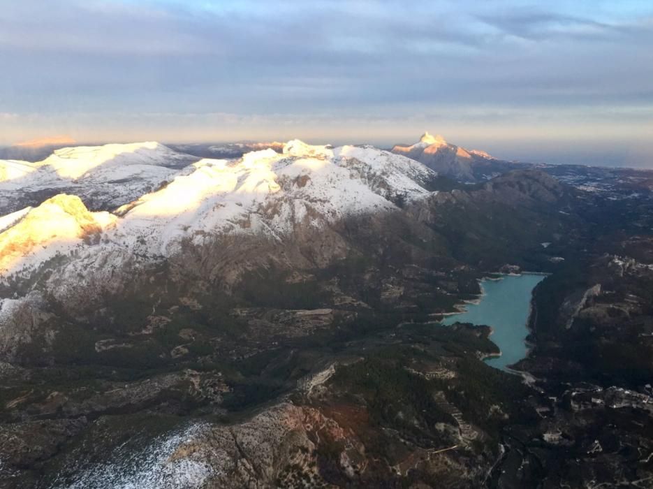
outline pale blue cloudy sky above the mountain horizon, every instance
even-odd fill
[[[650,0],[0,0],[0,144],[441,133],[653,168]]]

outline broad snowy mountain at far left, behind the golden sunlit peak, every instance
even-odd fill
[[[38,163],[0,161],[0,215],[74,194],[92,209],[111,210],[152,191],[197,158],[159,143],[57,149]]]

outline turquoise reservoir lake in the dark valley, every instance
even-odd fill
[[[483,280],[484,295],[479,304],[466,305],[466,312],[446,316],[442,324],[487,324],[494,332],[490,340],[501,349],[501,356],[485,360],[488,365],[507,370],[527,355],[526,337],[531,296],[544,275],[508,275],[499,280]]]

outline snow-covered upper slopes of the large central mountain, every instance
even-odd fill
[[[429,194],[425,187],[435,176],[420,163],[373,147],[332,149],[298,140],[286,144],[283,154],[266,149],[193,167],[123,209],[112,240],[168,255],[185,239],[201,245],[225,233],[278,237],[295,226],[392,210],[396,198]]]

